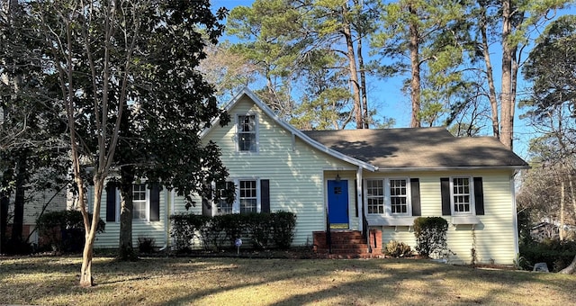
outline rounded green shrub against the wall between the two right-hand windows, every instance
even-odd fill
[[[448,247],[446,231],[448,222],[442,217],[419,217],[414,220],[416,250],[423,257],[443,256]]]

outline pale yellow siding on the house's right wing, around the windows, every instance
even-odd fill
[[[369,178],[373,174],[367,174]],[[391,175],[391,174],[385,174]],[[480,224],[455,225],[448,221],[448,248],[455,253],[448,260],[453,263],[469,264],[472,260],[471,249],[476,252],[477,262],[513,265],[516,260],[514,213],[510,184],[510,171],[478,170],[467,172],[418,172],[410,177],[419,177],[420,202],[423,217],[442,215],[440,177],[464,177],[473,175],[482,177],[484,194],[484,215],[479,215]],[[471,179],[472,184],[472,179]],[[383,246],[390,240],[407,243],[414,249],[416,238],[410,227],[378,226],[383,230]],[[475,237],[475,238],[474,238]],[[475,244],[473,243],[475,239]]]

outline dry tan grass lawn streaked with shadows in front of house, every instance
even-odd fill
[[[0,304],[570,305],[576,276],[473,269],[414,259],[0,258]]]

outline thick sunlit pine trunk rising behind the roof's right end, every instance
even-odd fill
[[[515,99],[512,96],[512,58],[514,47],[510,41],[512,31],[511,0],[502,0],[502,91],[500,97],[500,142],[512,149],[514,117],[512,109]]]

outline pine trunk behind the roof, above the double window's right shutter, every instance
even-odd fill
[[[416,17],[416,9],[410,4],[408,7],[410,14]],[[412,118],[410,120],[410,128],[419,128],[420,120],[420,59],[419,59],[419,30],[418,24],[410,23],[410,67],[412,70],[412,78],[410,80],[410,98],[412,100]]]

